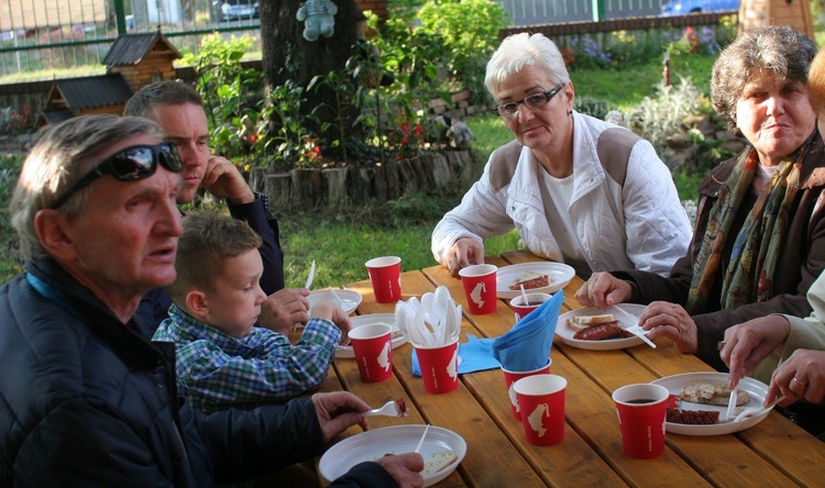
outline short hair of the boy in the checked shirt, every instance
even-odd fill
[[[195,212],[184,218],[184,233],[175,255],[175,282],[165,287],[182,304],[193,290],[212,291],[227,259],[261,247],[261,237],[242,220],[215,212]]]

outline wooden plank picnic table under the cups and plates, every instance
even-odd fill
[[[499,267],[543,260],[517,251],[488,256]],[[581,306],[573,298],[583,280],[574,277],[564,288],[562,313]],[[402,275],[403,299],[420,298],[438,286],[450,290],[462,306],[464,317],[460,342],[466,334],[495,337],[515,323],[508,300],[499,300],[497,311],[484,315],[466,312],[461,282],[443,266]],[[394,303],[377,303],[369,280],[346,285],[363,301],[359,314],[392,313]],[[420,377],[413,376],[413,346],[393,351],[393,378],[363,382],[354,361],[337,358],[322,388],[348,390],[373,407],[404,398],[409,417],[370,418],[370,428],[399,424],[442,426],[461,435],[466,456],[439,487],[531,487],[531,486],[822,486],[825,479],[825,444],[777,412],[757,425],[734,434],[688,436],[667,434],[664,454],[654,459],[625,456],[616,408],[610,395],[617,388],[649,382],[657,378],[693,371],[713,371],[693,355],[680,353],[667,339],[618,351],[585,351],[553,344],[551,373],[568,380],[565,436],[560,444],[536,447],[527,443],[521,423],[513,419],[501,369],[460,376],[459,388],[430,395]],[[341,439],[361,432],[355,425]]]

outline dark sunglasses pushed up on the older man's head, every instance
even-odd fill
[[[112,175],[120,181],[148,178],[155,174],[158,162],[169,171],[180,173],[184,170],[184,163],[177,154],[177,146],[173,143],[163,142],[154,146],[147,144],[129,146],[103,159],[95,169],[72,185],[50,208],[58,209],[78,190],[105,175]]]

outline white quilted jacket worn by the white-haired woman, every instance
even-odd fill
[[[573,195],[566,211],[591,271],[636,268],[667,276],[692,235],[670,170],[639,138],[631,143],[623,186],[607,175],[596,152],[600,134],[617,125],[578,112],[572,117]],[[534,254],[564,262],[541,197],[538,171],[543,169],[528,147],[514,153],[513,144],[518,142],[491,154],[481,179],[436,225],[431,244],[438,262],[461,237],[483,244],[514,226]],[[506,160],[505,153],[519,154],[518,160]]]

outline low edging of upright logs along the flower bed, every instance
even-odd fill
[[[381,204],[405,193],[437,192],[473,177],[470,151],[444,151],[372,167],[293,169],[252,168],[250,187],[270,196],[274,210]]]

